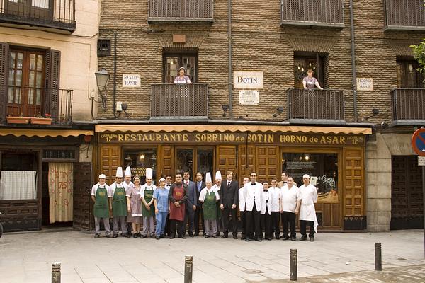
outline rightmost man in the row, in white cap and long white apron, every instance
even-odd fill
[[[300,232],[302,237],[300,241],[307,240],[307,224],[310,226],[310,242],[314,241],[314,232],[317,233],[317,216],[314,204],[317,202],[317,188],[310,184],[310,175],[303,175],[298,200],[301,201],[300,206]]]

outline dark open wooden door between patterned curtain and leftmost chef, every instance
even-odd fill
[[[74,163],[74,220],[75,229],[90,230],[91,224],[91,163]]]

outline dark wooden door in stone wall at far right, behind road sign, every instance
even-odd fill
[[[391,157],[390,229],[419,229],[424,226],[422,173],[417,156]]]

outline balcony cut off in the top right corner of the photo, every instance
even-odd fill
[[[384,0],[384,30],[425,30],[422,0]]]

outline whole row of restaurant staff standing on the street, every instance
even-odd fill
[[[230,230],[233,238],[237,239],[239,209],[242,240],[283,238],[295,241],[295,218],[299,214],[300,241],[307,240],[307,226],[310,227],[310,241],[314,241],[314,233],[317,233],[314,210],[317,188],[310,184],[307,174],[302,178],[303,185],[297,187],[293,178],[285,172],[279,183],[276,179],[270,183],[259,183],[253,172],[249,178],[244,178],[240,187],[233,180],[232,171],[227,171],[223,182],[220,171],[217,171],[215,183],[212,183],[210,173],[206,173],[203,182],[204,176],[200,172],[193,182],[186,171],[177,173],[174,182],[171,176],[159,179],[158,186],[152,183],[152,173],[151,168],[146,169],[144,185],[140,184],[139,176],[131,180],[130,167],[125,169],[124,181],[123,168],[118,167],[115,182],[111,185],[105,183],[105,175],[99,175],[98,183],[91,189],[96,229],[94,238],[100,237],[100,223],[103,221],[107,238],[116,238],[119,233],[128,238],[186,238],[186,226],[188,236],[194,237],[200,234],[201,223],[205,238],[217,238],[220,230],[223,233],[221,238],[228,238]],[[113,216],[112,231],[110,216]],[[280,219],[283,236],[280,236]],[[131,233],[127,223],[131,224]]]

